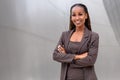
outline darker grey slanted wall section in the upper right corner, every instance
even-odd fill
[[[120,0],[103,0],[115,36],[120,44]]]

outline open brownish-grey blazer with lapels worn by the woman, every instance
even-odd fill
[[[97,80],[94,64],[98,54],[99,35],[85,28],[85,32],[79,48],[79,53],[88,52],[88,56],[84,59],[73,60],[75,54],[71,54],[68,51],[68,43],[73,32],[74,30],[63,32],[57,44],[57,46],[64,45],[67,54],[59,53],[57,46],[53,53],[53,59],[61,63],[60,80],[65,80],[68,64],[71,64],[73,67],[83,68],[85,80]]]

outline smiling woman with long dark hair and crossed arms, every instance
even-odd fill
[[[70,9],[69,31],[62,33],[53,59],[62,63],[60,80],[97,80],[94,64],[99,36],[91,31],[90,17],[84,4]]]

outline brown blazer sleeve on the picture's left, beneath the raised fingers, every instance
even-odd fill
[[[65,33],[66,32],[63,32],[60,39],[59,39],[59,42],[53,52],[53,60],[57,61],[57,62],[61,62],[61,63],[71,63],[74,59],[74,56],[75,54],[64,54],[64,53],[60,53],[58,50],[57,50],[57,47],[58,45],[64,45],[65,43],[65,38],[67,36],[65,36]]]

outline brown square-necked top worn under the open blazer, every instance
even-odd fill
[[[68,50],[71,54],[79,53],[80,42],[72,42],[70,41],[68,44]],[[83,77],[83,69],[73,67],[71,64],[68,66],[67,71],[67,80],[84,80]]]

